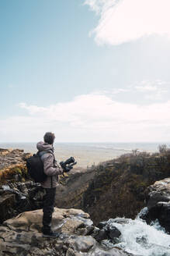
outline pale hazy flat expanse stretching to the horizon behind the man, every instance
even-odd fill
[[[73,156],[78,162],[78,169],[116,158],[134,149],[155,152],[158,151],[160,144],[170,147],[170,143],[56,143],[54,148],[57,162]],[[19,148],[25,152],[35,153],[36,143],[0,143],[0,148]]]

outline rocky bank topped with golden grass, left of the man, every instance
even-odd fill
[[[0,223],[20,212],[42,208],[43,190],[29,180],[23,150],[0,148]]]

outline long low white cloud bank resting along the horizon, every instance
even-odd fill
[[[151,105],[84,94],[48,107],[26,105],[24,116],[0,120],[1,141],[35,141],[54,131],[57,141],[161,141],[170,139],[170,101]]]

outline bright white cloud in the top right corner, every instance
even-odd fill
[[[151,34],[170,35],[169,0],[86,0],[99,15],[98,44],[122,44]]]

